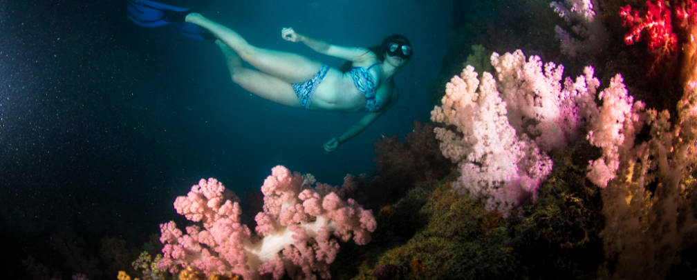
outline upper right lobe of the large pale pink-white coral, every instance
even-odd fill
[[[518,133],[535,139],[546,152],[559,151],[579,138],[584,120],[595,114],[600,81],[593,67],[575,80],[563,77],[564,66],[526,58],[521,50],[491,55],[496,87],[506,103],[508,120]]]

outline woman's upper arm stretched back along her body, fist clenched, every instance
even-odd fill
[[[314,51],[327,56],[343,58],[353,62],[375,59],[375,55],[368,49],[360,47],[341,47],[335,44],[329,44],[328,42],[324,42],[322,40],[300,35],[299,33],[296,33],[293,28],[283,28],[281,35],[284,40],[289,40],[291,42],[302,42],[310,49],[314,49]]]

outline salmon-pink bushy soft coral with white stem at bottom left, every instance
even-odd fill
[[[161,224],[164,256],[158,266],[171,272],[192,266],[208,276],[245,279],[261,274],[281,279],[286,272],[293,279],[329,278],[329,264],[339,252],[335,238],[365,245],[377,224],[372,211],[353,199],[321,189],[311,188],[297,172],[274,167],[261,187],[264,205],[255,218],[255,236],[240,223],[238,199],[217,180],[202,179],[186,197],[177,197],[174,207],[203,229],[193,225],[183,233],[174,222]]]

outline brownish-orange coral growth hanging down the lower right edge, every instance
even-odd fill
[[[638,114],[648,135],[621,142],[617,176],[602,193],[602,273],[618,279],[666,277],[697,234],[697,92],[684,93],[673,121],[667,110]]]

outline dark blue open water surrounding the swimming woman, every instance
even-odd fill
[[[346,46],[411,40],[399,102],[328,154],[322,143],[361,113],[256,97],[231,82],[213,44],[132,24],[125,1],[112,2],[0,0],[0,228],[14,265],[51,252],[50,236],[66,231],[143,242],[201,178],[244,194],[279,164],[332,184],[372,172],[373,142],[429,116],[451,13],[445,0],[202,3],[251,44],[335,67],[343,61],[282,40],[281,28]]]

